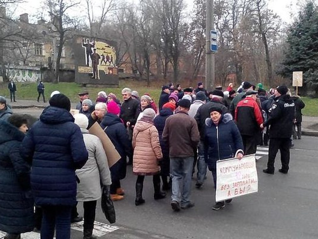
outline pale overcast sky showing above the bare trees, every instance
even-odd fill
[[[81,0],[83,1],[83,0]],[[132,2],[136,0],[131,0]],[[193,0],[185,0],[189,6],[193,4]],[[269,0],[268,7],[277,13],[283,21],[291,23],[292,19],[290,18],[290,12],[293,11],[297,13],[298,7],[296,6],[297,2],[304,2],[305,0]],[[37,8],[41,5],[41,0],[25,0],[25,3],[19,4],[15,12],[16,16],[19,16],[22,13],[29,13],[29,15],[35,14]],[[98,2],[98,0],[94,0]]]

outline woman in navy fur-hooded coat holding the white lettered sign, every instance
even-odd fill
[[[216,162],[218,160],[243,157],[243,142],[239,129],[229,113],[222,114],[222,108],[212,106],[210,117],[205,120],[204,134],[204,158],[212,172],[214,189],[216,189],[217,173]],[[230,203],[232,199],[225,200]],[[225,206],[225,202],[216,202],[213,210],[219,210]]]

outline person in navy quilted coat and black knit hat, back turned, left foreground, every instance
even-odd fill
[[[83,135],[70,114],[70,100],[54,95],[40,120],[23,140],[21,155],[32,163],[31,191],[42,207],[41,238],[70,238],[71,209],[76,204],[75,170],[88,159]]]

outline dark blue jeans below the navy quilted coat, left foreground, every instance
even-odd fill
[[[43,218],[41,239],[53,239],[56,227],[56,239],[70,239],[72,206],[42,206]]]

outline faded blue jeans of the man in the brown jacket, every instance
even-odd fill
[[[181,197],[181,205],[190,203],[192,164],[193,157],[170,158],[170,174],[172,177],[171,200],[180,202]]]

